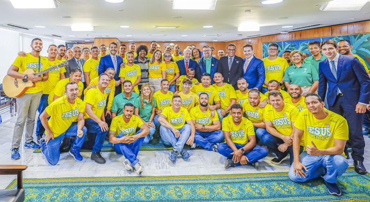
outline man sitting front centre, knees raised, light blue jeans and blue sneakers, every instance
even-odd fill
[[[180,96],[173,96],[172,106],[163,109],[159,115],[159,133],[164,145],[172,145],[169,159],[176,163],[177,156],[181,154],[184,160],[190,157],[190,154],[183,149],[185,143],[192,145],[194,143],[195,128],[191,121],[189,112],[181,106]],[[187,125],[185,124],[187,123]]]

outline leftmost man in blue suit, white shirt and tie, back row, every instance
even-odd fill
[[[123,63],[123,59],[121,56],[116,55],[117,53],[117,43],[112,42],[109,44],[109,55],[105,55],[100,58],[99,62],[99,75],[103,74],[106,69],[113,68],[116,72],[116,75],[114,76],[114,80],[116,80],[116,90],[114,92],[114,95],[118,95],[122,92],[121,87],[117,87],[121,84],[121,80],[119,78],[119,70],[121,67],[121,64]]]

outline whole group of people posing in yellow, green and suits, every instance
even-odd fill
[[[90,50],[50,45],[47,57],[40,55],[41,39],[33,39],[30,47],[8,70],[9,76],[35,83],[17,98],[13,160],[21,158],[26,126],[24,147],[41,148],[51,165],[59,161],[63,138],[70,136],[75,138],[69,154],[76,161],[82,160],[79,150],[87,142],[91,160],[104,164],[100,151],[108,138],[125,156],[124,168],[141,174],[140,147],[159,134],[164,145],[173,147],[168,156],[173,164],[179,156],[190,158],[185,145],[220,153],[225,168],[258,169],[270,151],[275,165],[289,157],[292,181],[322,177],[337,196],[348,148],[356,172],[367,173],[361,123],[370,108],[369,69],[351,53],[349,41],[310,42],[312,56],[305,59],[298,50],[279,57],[275,43],[263,59],[251,44],[242,47],[244,58],[235,54],[235,44],[227,46],[226,55],[218,50],[218,56],[208,45],[200,51],[169,44],[162,52],[156,41],[149,48],[131,43],[129,51],[115,42]],[[66,60],[68,66],[42,76],[23,74]]]

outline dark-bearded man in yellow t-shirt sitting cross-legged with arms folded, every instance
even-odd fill
[[[190,110],[190,117],[195,127],[193,144],[198,144],[208,151],[218,152],[216,143],[224,140],[218,115],[216,113],[212,116],[211,110],[208,108],[207,93],[199,95],[199,102],[199,106]]]

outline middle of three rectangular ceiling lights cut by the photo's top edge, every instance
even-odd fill
[[[214,10],[217,0],[173,0],[172,9]],[[195,5],[195,6],[194,6]]]

